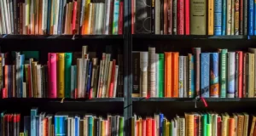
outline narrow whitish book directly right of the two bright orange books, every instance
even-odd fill
[[[183,98],[184,97],[184,88],[183,88],[183,75],[184,75],[184,56],[179,56],[178,58],[178,97]]]

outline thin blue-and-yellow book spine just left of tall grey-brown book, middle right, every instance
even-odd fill
[[[189,98],[194,98],[195,96],[194,56],[192,54],[189,54],[188,58],[189,58]]]

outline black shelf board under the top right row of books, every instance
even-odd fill
[[[194,40],[194,39],[217,39],[217,40],[239,40],[239,39],[256,39],[255,36],[207,36],[207,35],[150,35],[150,34],[134,34],[133,39],[151,39],[151,40]]]

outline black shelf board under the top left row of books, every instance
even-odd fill
[[[75,35],[75,39],[123,39],[123,35]],[[73,35],[0,35],[1,39],[73,39]]]

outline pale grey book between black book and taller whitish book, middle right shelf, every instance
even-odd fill
[[[141,97],[148,94],[148,52],[140,52],[140,92]]]

